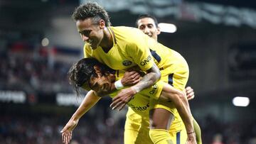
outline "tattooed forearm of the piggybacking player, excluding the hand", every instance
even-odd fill
[[[135,89],[136,92],[141,92],[142,89],[146,89],[147,87],[157,82],[160,77],[161,73],[159,71],[159,68],[156,66],[156,64],[154,64],[149,72],[147,72],[137,84],[132,86],[132,89]]]

